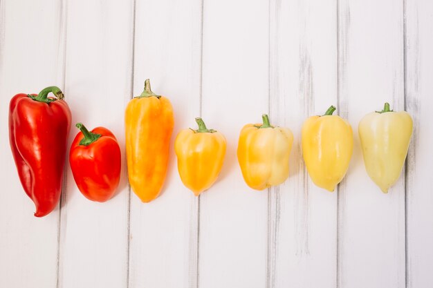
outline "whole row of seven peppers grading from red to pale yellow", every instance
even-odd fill
[[[48,97],[53,93],[55,97]],[[333,191],[347,172],[353,152],[350,124],[333,115],[331,106],[322,116],[306,119],[302,126],[302,153],[314,184]],[[288,177],[293,133],[275,127],[268,115],[262,124],[241,130],[237,158],[243,178],[252,189],[282,184]],[[181,180],[195,195],[209,189],[223,166],[226,141],[196,118],[197,130],[178,133],[174,150]],[[50,86],[38,95],[17,94],[10,101],[10,146],[19,179],[42,217],[55,209],[62,190],[71,111],[62,91]],[[74,180],[86,198],[105,202],[113,197],[120,180],[121,153],[116,137],[107,128],[88,131],[81,124],[73,140],[69,162]],[[169,99],[151,91],[149,79],[140,96],[125,111],[129,183],[142,202],[158,197],[167,172],[169,142],[174,126]],[[412,118],[383,111],[367,114],[358,127],[369,177],[387,193],[400,175],[412,136]]]

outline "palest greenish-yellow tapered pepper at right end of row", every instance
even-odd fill
[[[393,112],[385,103],[383,111],[369,113],[358,126],[365,169],[383,193],[400,176],[412,136],[412,117]]]

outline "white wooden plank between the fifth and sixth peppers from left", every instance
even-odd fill
[[[306,117],[337,104],[335,8],[336,1],[271,1],[270,116],[295,141],[291,176],[270,191],[267,287],[335,287],[337,192],[311,182],[300,135]]]

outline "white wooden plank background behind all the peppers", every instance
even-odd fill
[[[0,0],[0,287],[433,287],[433,1]],[[8,144],[16,93],[57,85],[73,123],[125,144],[124,109],[150,78],[174,135],[201,115],[228,140],[219,181],[185,189],[173,149],[163,194],[127,184],[99,204],[69,167],[61,204],[33,217]],[[414,117],[387,195],[365,173],[357,126],[383,102]],[[354,154],[338,191],[314,186],[300,128],[331,104]],[[252,191],[236,160],[261,113],[295,133],[291,177]],[[77,133],[71,129],[70,141]]]

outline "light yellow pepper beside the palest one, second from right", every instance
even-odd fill
[[[353,152],[350,124],[332,115],[331,106],[323,116],[312,116],[302,126],[302,153],[308,174],[317,186],[334,191],[349,168]]]

